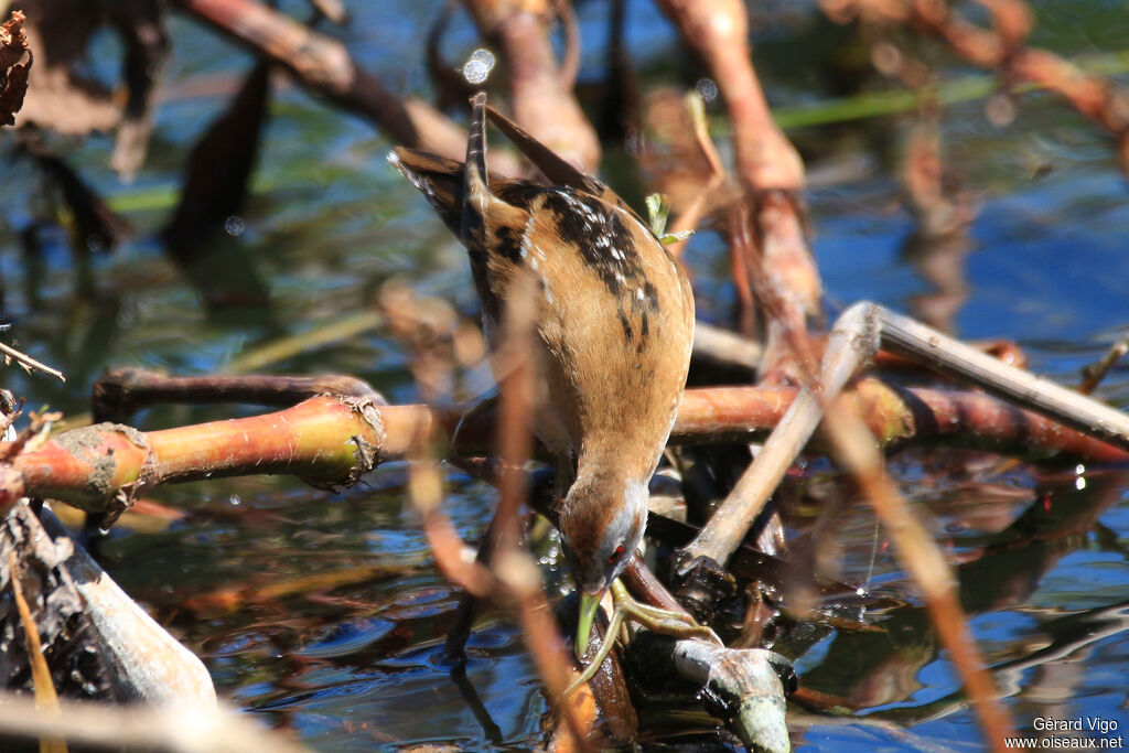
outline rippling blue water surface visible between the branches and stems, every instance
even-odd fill
[[[342,38],[358,60],[395,90],[425,89],[420,40],[437,8],[353,5],[356,20]],[[1051,21],[1036,37],[1043,44],[1079,53],[1121,43],[1109,33],[1114,11],[1103,3],[1073,3],[1069,14],[1049,3],[1040,12]],[[1115,12],[1123,20],[1123,10]],[[606,8],[585,3],[579,14],[581,81],[598,84]],[[774,104],[840,96],[826,76],[826,51],[846,32],[811,18],[790,8],[754,24]],[[80,291],[82,272],[61,231],[42,236],[40,278],[28,271],[16,234],[30,217],[24,196],[32,173],[20,163],[0,176],[11,198],[0,216],[0,277],[14,325],[5,336],[69,378],[62,386],[9,369],[9,388],[29,405],[80,414],[103,368],[221,370],[263,343],[365,310],[392,279],[452,301],[473,322],[464,253],[387,166],[391,145],[292,87],[273,94],[254,195],[228,220],[211,265],[192,275],[169,262],[152,237],[172,210],[183,160],[251,63],[184,19],[174,21],[173,36],[176,56],[152,154],[137,182],[123,186],[110,173],[112,145],[103,137],[69,155],[135,228],[114,254],[91,260],[93,295]],[[480,45],[461,16],[445,38],[452,65]],[[648,86],[700,80],[700,71],[679,70],[676,37],[648,3],[629,3],[628,41]],[[114,44],[108,35],[99,38],[107,54],[95,55],[107,77],[115,71],[105,62]],[[968,71],[953,65],[949,73]],[[913,221],[900,202],[895,166],[908,128],[907,116],[894,116],[794,133],[819,185],[809,194],[813,247],[832,309],[869,298],[920,313],[935,292],[933,272],[908,245]],[[1129,323],[1129,203],[1109,140],[1043,95],[1024,97],[1017,120],[1003,129],[986,122],[980,103],[955,105],[944,130],[946,164],[980,208],[970,243],[953,253],[961,300],[952,327],[964,338],[1015,339],[1036,370],[1076,383],[1078,370]],[[718,237],[699,233],[688,259],[701,315],[726,321],[734,296]],[[210,305],[217,296],[236,305]],[[270,370],[355,374],[394,402],[420,397],[409,356],[382,330],[287,357]],[[474,395],[487,383],[480,370],[461,375],[456,386]],[[1102,394],[1129,403],[1129,368],[1115,369]],[[137,423],[164,428],[254,410],[161,408],[139,414]],[[1038,716],[1124,720],[1124,475],[1087,469],[1079,489],[1073,467],[1004,467],[990,457],[940,452],[907,453],[891,467],[957,570],[971,629],[1021,733],[1030,733]],[[852,499],[830,466],[812,469],[808,499],[824,507]],[[539,745],[546,704],[511,623],[497,612],[482,616],[465,683],[456,683],[440,658],[457,593],[431,566],[403,481],[404,467],[394,464],[342,496],[279,478],[159,489],[155,499],[187,516],[119,526],[105,563],[204,657],[225,697],[315,748]],[[458,533],[479,537],[495,493],[460,475],[448,483],[446,509]],[[838,497],[821,497],[823,487]],[[820,508],[806,509],[789,516],[797,534],[812,528],[812,510]],[[979,750],[947,655],[873,514],[863,505],[843,507],[823,543],[820,566],[828,575],[905,605],[870,615],[881,632],[840,627],[813,638],[797,662],[803,683],[848,699],[858,711],[830,718],[793,709],[794,743]],[[548,577],[559,590],[559,568]],[[709,723],[700,724],[697,741],[720,745]],[[681,739],[664,734],[656,724],[646,739]]]

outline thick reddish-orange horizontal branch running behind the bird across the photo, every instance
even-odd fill
[[[702,444],[763,436],[788,409],[789,387],[686,392],[672,441]],[[1054,454],[1091,462],[1129,455],[992,397],[895,389],[861,380],[854,394],[883,445],[944,438],[1023,455]],[[288,473],[317,487],[348,485],[384,461],[413,456],[419,443],[448,440],[464,408],[380,405],[373,399],[312,397],[253,418],[141,432],[100,423],[62,432],[11,461],[26,494],[90,511],[116,513],[157,483],[220,475]],[[476,411],[460,429],[455,452],[493,446],[496,417]],[[0,444],[0,453],[7,445]],[[11,480],[10,489],[18,482]]]

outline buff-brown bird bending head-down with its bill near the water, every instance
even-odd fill
[[[489,174],[488,117],[550,184]],[[648,485],[690,366],[690,281],[622,199],[489,107],[484,93],[471,100],[464,163],[405,147],[388,159],[466,247],[491,352],[517,280],[536,281],[530,428],[570,475],[559,529],[583,656],[601,597],[646,528]]]

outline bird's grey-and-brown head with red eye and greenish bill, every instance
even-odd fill
[[[580,594],[576,653],[588,647],[599,598],[623,572],[647,527],[647,487],[636,480],[581,474],[561,508],[560,529]]]

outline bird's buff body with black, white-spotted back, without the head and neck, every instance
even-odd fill
[[[532,140],[513,124],[504,130]],[[472,141],[473,132],[472,125]],[[480,150],[484,143],[469,149],[472,164],[472,155],[482,157],[475,175],[464,163],[405,148],[392,161],[466,245],[492,349],[515,280],[528,272],[536,281],[534,431],[581,465],[609,457],[631,478],[649,476],[690,360],[693,297],[685,274],[595,178],[551,165],[546,174],[555,168],[570,185],[487,181]]]

